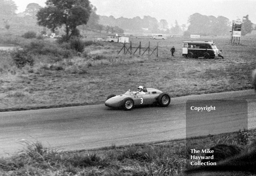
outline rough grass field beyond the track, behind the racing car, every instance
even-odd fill
[[[108,95],[136,90],[139,85],[160,89],[171,97],[251,89],[251,72],[256,67],[254,37],[242,36],[236,45],[229,43],[229,37],[201,38],[213,40],[224,59],[189,59],[182,57],[181,44],[190,40],[186,37],[130,37],[133,47],[139,42],[148,47],[150,42],[153,50],[158,42],[158,57],[149,57],[138,51],[117,54],[123,44],[93,42],[90,36],[82,39],[86,46],[79,53],[54,39],[0,36],[5,43],[27,48],[34,61],[33,66],[18,68],[13,61],[15,51],[0,51],[0,111],[104,103]],[[171,57],[172,46],[175,57]]]

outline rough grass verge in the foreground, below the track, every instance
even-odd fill
[[[70,152],[46,148],[38,141],[24,142],[22,143],[24,149],[16,155],[0,158],[0,174],[6,176],[183,175],[184,169],[188,168],[190,148],[209,149],[217,144],[227,144],[244,150],[247,149],[247,144],[255,142],[255,135],[254,129],[249,132],[208,135],[188,140]]]

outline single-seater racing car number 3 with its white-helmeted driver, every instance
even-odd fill
[[[163,107],[170,104],[170,96],[155,88],[143,88],[143,92],[128,90],[123,95],[109,95],[105,105],[113,108],[131,110],[134,106],[159,104]]]

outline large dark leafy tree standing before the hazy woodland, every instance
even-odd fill
[[[87,24],[92,8],[89,0],[47,0],[46,7],[36,14],[38,25],[54,29],[64,25],[67,41],[79,34],[76,28]]]

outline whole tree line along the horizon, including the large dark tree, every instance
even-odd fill
[[[156,18],[144,16],[143,18],[114,18],[113,16],[97,15],[97,8],[89,0],[47,0],[46,6],[41,7],[36,3],[28,4],[23,12],[27,16],[36,17],[37,24],[47,27],[53,32],[57,27],[64,27],[67,40],[72,36],[79,36],[79,28],[106,33],[145,32],[166,33],[173,35],[190,34],[198,35],[228,35],[232,23],[223,16],[206,16],[194,13],[188,17],[188,24],[175,24],[169,27],[165,19],[158,21]],[[0,14],[15,15],[16,4],[12,0],[0,0]],[[5,27],[8,26],[4,19]],[[253,23],[246,15],[242,19],[241,34],[245,35],[254,30]]]

